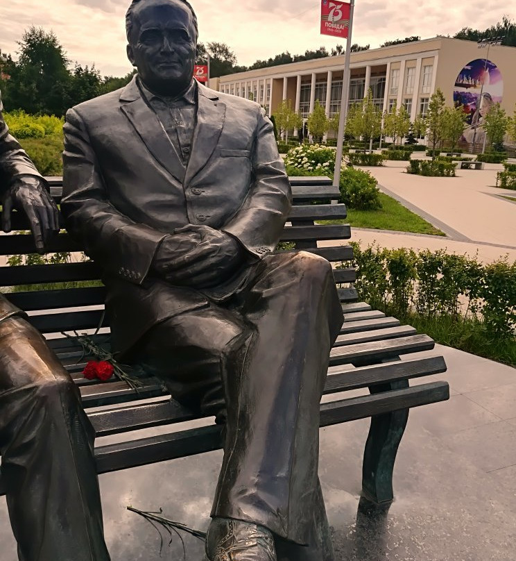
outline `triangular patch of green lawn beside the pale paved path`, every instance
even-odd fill
[[[355,228],[372,228],[375,230],[393,230],[415,234],[445,235],[434,228],[419,215],[414,214],[392,197],[380,193],[381,210],[347,211],[346,220],[328,221],[329,224],[350,224]]]

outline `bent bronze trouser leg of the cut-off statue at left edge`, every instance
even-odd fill
[[[0,452],[22,561],[107,561],[94,432],[44,339],[0,323]]]

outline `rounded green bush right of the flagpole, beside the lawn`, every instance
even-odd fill
[[[380,190],[377,180],[362,169],[345,167],[341,172],[341,203],[356,210],[378,210],[381,208]]]

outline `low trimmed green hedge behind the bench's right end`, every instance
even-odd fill
[[[441,318],[451,326],[470,321],[486,353],[509,342],[516,360],[516,262],[511,265],[504,259],[483,265],[476,258],[443,250],[415,253],[352,245],[359,299],[411,321]],[[467,340],[458,343],[471,350]]]

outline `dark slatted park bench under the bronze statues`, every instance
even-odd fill
[[[53,196],[59,201],[61,179],[49,178],[49,181]],[[312,251],[334,263],[345,264],[352,260],[352,248],[348,245],[337,243],[318,247],[317,244],[322,240],[350,238],[350,226],[317,224],[318,221],[346,217],[345,206],[337,204],[339,193],[336,187],[332,187],[332,181],[328,178],[291,178],[291,183],[295,206],[282,241],[294,242],[296,249]],[[14,217],[13,226],[19,231],[28,227],[22,216]],[[49,250],[80,251],[81,248],[67,234],[61,234]],[[31,236],[26,232],[0,236],[0,255],[33,252]],[[3,287],[95,281],[99,278],[99,271],[92,262],[0,269]],[[371,310],[365,303],[356,303],[356,291],[352,287],[355,272],[351,267],[335,269],[334,276],[340,286],[345,323],[329,358],[325,394],[358,388],[369,388],[370,394],[322,404],[320,426],[372,418],[363,462],[363,496],[373,503],[386,503],[393,499],[395,455],[408,410],[449,398],[449,387],[445,382],[410,387],[408,380],[444,372],[446,365],[442,357],[400,360],[401,355],[433,349],[433,340],[427,335],[416,334],[409,326],[401,326],[393,317]],[[31,323],[49,338],[49,345],[80,386],[85,408],[107,406],[104,410],[89,412],[98,437],[196,419],[191,410],[173,401],[155,378],[144,378],[143,387],[138,392],[118,380],[101,384],[83,378],[85,364],[84,360],[78,362],[81,355],[78,345],[60,333],[95,330],[103,318],[104,296],[105,290],[101,286],[7,294],[12,303],[31,315]],[[105,340],[108,335],[96,337]],[[150,398],[157,399],[149,401]],[[165,435],[99,446],[96,449],[98,473],[220,449],[221,428],[207,423],[208,426],[201,428],[171,430]],[[0,493],[3,492],[1,487],[0,479]]]

